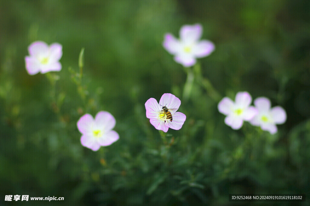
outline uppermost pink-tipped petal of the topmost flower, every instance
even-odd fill
[[[202,35],[202,26],[200,24],[184,25],[180,30],[180,39],[183,42],[195,42]]]

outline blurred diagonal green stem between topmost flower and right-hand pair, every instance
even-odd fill
[[[194,65],[195,77],[198,83],[206,90],[208,95],[215,101],[219,102],[222,98],[218,91],[212,86],[210,80],[208,78],[204,78],[201,74],[201,66],[199,63]]]

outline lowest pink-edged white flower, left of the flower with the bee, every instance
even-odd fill
[[[77,124],[82,133],[82,145],[94,151],[111,145],[119,138],[118,133],[112,130],[115,123],[115,118],[107,111],[98,112],[95,119],[90,114],[83,115]]]

